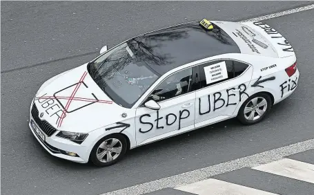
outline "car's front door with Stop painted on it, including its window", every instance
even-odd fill
[[[139,106],[135,118],[137,145],[194,128],[195,91],[192,69],[186,68],[168,76],[149,95],[148,100],[155,100],[160,106],[159,110]]]

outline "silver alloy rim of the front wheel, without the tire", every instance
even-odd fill
[[[102,163],[109,163],[118,158],[122,151],[122,143],[117,138],[109,138],[99,145],[96,156]]]

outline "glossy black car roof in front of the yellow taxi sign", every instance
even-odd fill
[[[151,59],[146,61],[154,71],[164,73],[206,57],[226,53],[241,53],[239,47],[224,30],[213,24],[213,30],[205,30],[193,21],[148,32],[130,39],[145,48]]]

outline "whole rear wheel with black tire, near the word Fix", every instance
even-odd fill
[[[254,106],[255,100],[257,100],[257,104]],[[262,101],[264,102],[262,103]],[[262,105],[265,102],[266,104],[264,106],[266,107],[264,106],[257,107],[257,105]],[[237,114],[237,119],[239,120],[239,122],[245,125],[256,124],[264,119],[265,115],[267,115],[268,111],[271,109],[272,106],[273,105],[270,95],[268,95],[267,93],[254,94],[251,97],[248,97],[248,99],[242,104]],[[244,109],[246,109],[246,113],[244,113]],[[251,112],[250,109],[252,109]],[[253,111],[254,113],[252,118]],[[264,111],[264,113],[262,111]]]

